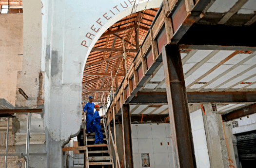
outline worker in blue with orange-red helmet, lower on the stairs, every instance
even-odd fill
[[[105,144],[103,143],[103,134],[101,131],[101,126],[100,126],[100,119],[101,118],[106,118],[104,116],[99,116],[98,111],[99,111],[99,105],[95,105],[96,111],[94,112],[94,120],[93,120],[93,125],[95,128],[95,144]]]

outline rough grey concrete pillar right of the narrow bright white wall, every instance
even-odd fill
[[[203,115],[203,119],[211,168],[237,168],[231,131],[227,127],[227,123],[224,122],[224,128],[229,152],[225,140],[221,114],[212,112],[211,104],[206,104],[203,106],[205,109],[205,115]],[[229,153],[232,160],[231,166],[229,166]]]

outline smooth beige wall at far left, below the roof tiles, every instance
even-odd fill
[[[15,105],[17,72],[22,69],[23,14],[0,15],[0,98]]]

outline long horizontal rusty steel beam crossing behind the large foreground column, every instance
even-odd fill
[[[188,103],[251,103],[256,92],[187,92]],[[138,92],[130,104],[167,104],[166,92]]]

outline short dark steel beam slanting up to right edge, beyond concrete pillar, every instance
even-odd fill
[[[254,113],[256,113],[256,104],[243,107],[241,109],[235,110],[233,112],[229,112],[227,114],[222,114],[221,116],[223,121],[230,121],[230,120],[241,118]]]

